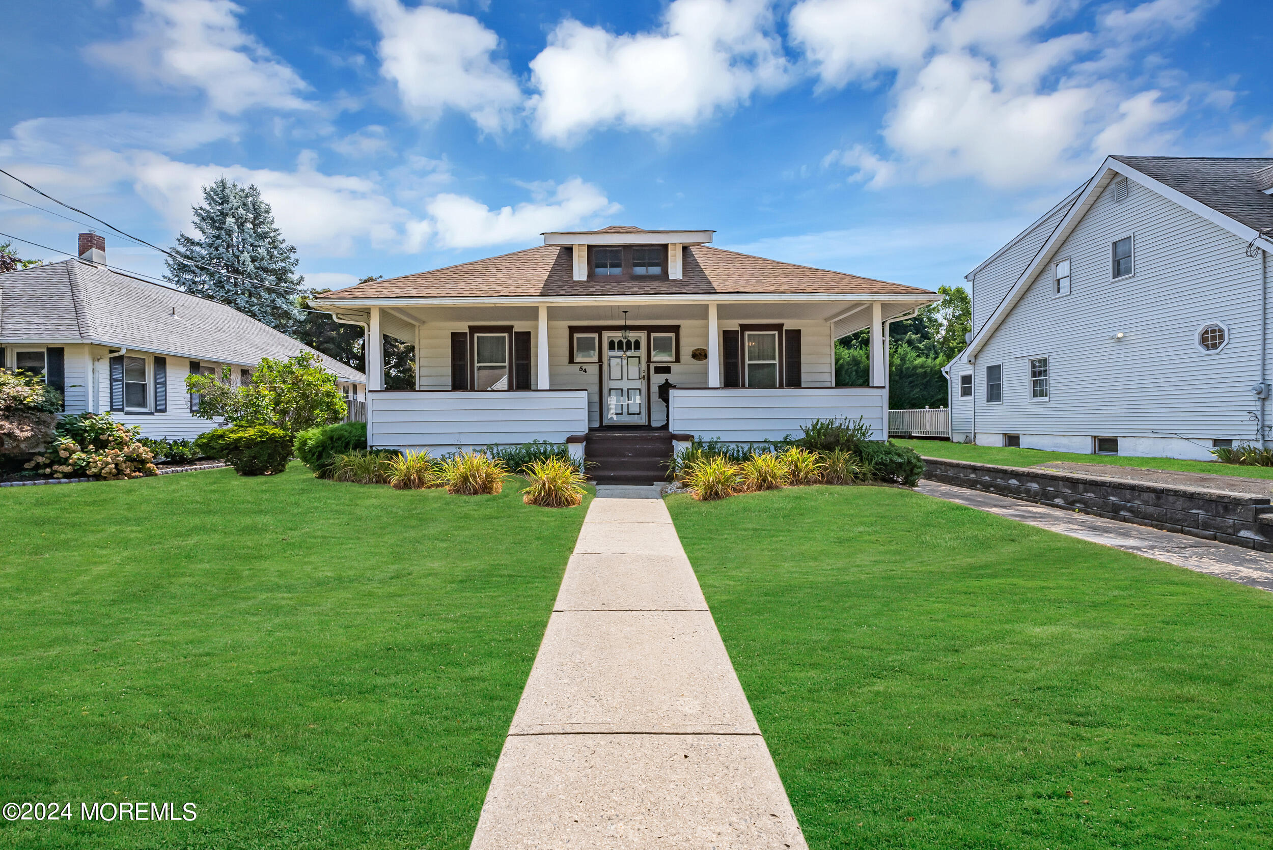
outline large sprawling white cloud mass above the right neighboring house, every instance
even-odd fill
[[[1186,93],[1139,90],[1133,51],[1192,27],[1213,0],[1147,0],[1090,32],[1045,37],[1067,0],[802,0],[793,38],[824,85],[891,71],[887,153],[849,145],[829,162],[880,187],[971,177],[998,188],[1067,181],[1113,148],[1160,151]],[[1085,62],[1074,65],[1080,59]]]

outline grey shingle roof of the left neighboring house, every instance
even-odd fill
[[[0,275],[0,340],[83,340],[248,365],[313,351],[225,304],[78,260]],[[340,378],[365,382],[320,356]]]

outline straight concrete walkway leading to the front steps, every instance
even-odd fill
[[[806,847],[657,487],[597,487],[472,846]]]

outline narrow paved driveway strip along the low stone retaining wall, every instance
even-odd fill
[[[929,496],[955,501],[1048,531],[1136,552],[1198,573],[1249,584],[1253,588],[1273,590],[1273,555],[1265,552],[1144,526],[1120,523],[1116,519],[1048,508],[1031,501],[1018,501],[1008,496],[955,487],[937,481],[920,481],[915,489]]]

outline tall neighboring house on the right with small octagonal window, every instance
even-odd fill
[[[1211,459],[1268,431],[1273,159],[1111,157],[974,268],[955,440]]]

